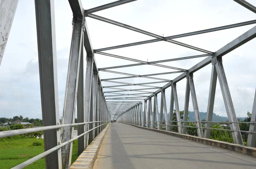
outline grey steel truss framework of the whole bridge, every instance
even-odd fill
[[[40,87],[41,87],[41,107],[44,127],[30,128],[23,130],[12,130],[6,132],[0,132],[0,138],[25,134],[35,131],[44,131],[44,149],[45,152],[40,155],[25,161],[14,168],[23,168],[29,164],[37,161],[40,158],[45,157],[46,168],[69,168],[71,165],[72,143],[78,139],[78,152],[79,155],[84,152],[93,139],[101,133],[106,125],[111,121],[121,122],[118,124],[111,124],[110,126],[119,127],[124,129],[127,124],[136,125],[140,128],[146,128],[150,130],[166,130],[172,133],[172,127],[177,126],[177,134],[187,134],[187,122],[188,122],[188,108],[189,97],[191,95],[192,105],[195,112],[195,123],[197,134],[199,138],[209,138],[212,124],[213,106],[215,100],[215,89],[218,81],[221,87],[221,93],[224,100],[224,105],[229,119],[230,130],[232,132],[234,144],[244,145],[241,132],[248,133],[247,146],[253,148],[256,147],[256,93],[253,102],[253,110],[251,116],[251,122],[238,122],[236,113],[231,99],[227,78],[225,75],[224,67],[222,64],[222,57],[239,48],[244,43],[250,41],[256,37],[256,26],[250,30],[236,37],[233,41],[223,46],[217,51],[207,51],[202,48],[198,48],[186,43],[179,42],[175,39],[180,37],[189,37],[198,34],[206,34],[209,32],[220,31],[224,29],[241,27],[244,25],[255,24],[256,20],[250,20],[243,23],[236,23],[232,25],[224,25],[221,27],[210,28],[200,31],[189,32],[185,34],[178,34],[169,37],[163,37],[161,35],[153,34],[148,31],[135,28],[125,23],[119,23],[114,20],[110,20],[105,17],[93,14],[97,11],[105,10],[115,6],[120,6],[125,3],[132,3],[135,0],[118,0],[113,3],[108,3],[95,8],[84,10],[80,0],[69,0],[70,8],[73,11],[73,33],[70,47],[70,59],[67,72],[67,86],[64,99],[64,110],[62,123],[59,121],[58,113],[58,84],[56,73],[56,42],[55,42],[55,17],[54,17],[54,0],[35,0],[35,14],[36,14],[36,28],[38,39],[38,59],[39,59],[39,74],[40,74]],[[8,40],[8,35],[11,30],[12,21],[15,16],[18,0],[0,0],[0,33],[2,42],[0,43],[0,63],[3,58],[5,46]],[[256,7],[246,2],[245,0],[234,0],[234,3],[239,3],[244,8],[256,13]],[[100,20],[105,23],[113,24],[121,28],[136,31],[141,34],[152,37],[150,40],[141,42],[134,42],[129,44],[122,44],[117,46],[111,46],[108,48],[94,49],[90,40],[90,35],[87,28],[86,18],[90,17],[95,20]],[[125,56],[118,56],[114,54],[108,54],[104,51],[125,48],[129,46],[142,45],[152,42],[165,41],[166,43],[172,43],[180,45],[184,48],[190,48],[195,51],[203,52],[204,54],[196,56],[178,57],[174,59],[157,60],[153,62],[146,62],[139,59],[132,59]],[[85,48],[86,53],[83,53]],[[100,54],[110,56],[118,59],[125,59],[128,61],[137,62],[130,65],[119,65],[106,68],[98,68],[94,54]],[[194,65],[189,69],[176,68],[172,66],[162,65],[164,62],[172,62],[184,59],[204,58],[201,62]],[[86,59],[86,66],[84,67],[84,60]],[[205,121],[205,127],[202,127],[201,119],[198,110],[197,96],[195,92],[195,85],[193,81],[193,73],[196,73],[206,65],[212,64],[212,72],[210,76],[209,86],[209,99],[207,105],[207,118]],[[157,67],[169,68],[173,71],[165,73],[154,73],[137,75],[131,73],[124,73],[119,71],[113,71],[116,68],[133,68],[134,66],[152,65]],[[85,71],[84,71],[85,69]],[[121,74],[125,77],[116,77],[111,79],[101,79],[99,71]],[[85,79],[84,79],[85,73]],[[162,79],[157,76],[163,74],[181,73],[175,79]],[[154,77],[152,77],[154,76]],[[156,81],[145,83],[128,83],[122,80],[129,78],[146,78]],[[180,108],[177,98],[176,86],[180,80],[186,78],[186,91],[185,106],[183,121],[180,119]],[[84,85],[85,82],[85,85]],[[103,86],[102,82],[109,82],[111,86]],[[162,87],[154,86],[158,83],[164,83]],[[125,87],[135,86],[137,89],[127,89]],[[166,106],[166,94],[165,90],[171,87],[171,99],[168,118],[168,110]],[[110,89],[110,90],[105,90]],[[150,92],[147,90],[155,90]],[[160,107],[157,101],[157,95],[161,94]],[[152,98],[154,99],[152,103]],[[153,104],[153,108],[152,108]],[[173,125],[173,112],[174,106],[177,115],[177,125]],[[77,119],[78,123],[74,123],[77,107]],[[144,110],[143,110],[144,109]],[[159,112],[160,110],[160,112]],[[164,119],[168,119],[163,121]],[[125,123],[125,124],[123,124]],[[239,123],[249,123],[249,131],[241,131]],[[74,126],[78,125],[78,136],[73,137]],[[127,125],[128,126],[128,125]],[[127,127],[126,126],[126,127]],[[129,128],[130,127],[130,128]],[[135,127],[129,126],[134,133],[140,131]],[[127,128],[127,129],[128,129]],[[204,132],[203,132],[204,129]],[[109,129],[110,130],[110,129]],[[115,128],[117,131],[118,128]],[[225,130],[225,129],[215,129]],[[112,130],[111,130],[112,131]],[[108,131],[107,131],[108,132]],[[113,134],[119,133],[118,131],[112,131]],[[111,132],[111,133],[112,133]],[[114,133],[115,132],[115,133]],[[138,132],[143,135],[142,133]],[[140,136],[138,136],[140,137]],[[182,142],[182,141],[181,141]],[[111,143],[114,144],[114,143]],[[256,150],[255,150],[256,152]],[[251,154],[253,154],[251,152]],[[256,165],[256,164],[255,164]],[[121,166],[122,168],[122,166]]]

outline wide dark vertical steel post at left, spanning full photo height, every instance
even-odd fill
[[[10,4],[12,6],[15,6],[15,3],[17,3],[16,1],[9,1],[9,0],[6,0],[5,2],[7,1],[8,3],[12,3]],[[15,10],[13,10],[13,15],[14,15],[14,11]],[[59,109],[58,109],[59,107],[58,107],[57,58],[56,58],[55,18],[54,18],[53,0],[44,0],[44,1],[35,0],[35,16],[36,16],[37,40],[38,40],[38,63],[39,63],[43,126],[52,126],[52,125],[60,124]],[[6,18],[6,15],[3,15],[3,17]],[[3,23],[3,25],[4,24],[5,23]],[[11,27],[10,22],[9,22],[9,27]],[[0,58],[0,60],[1,59],[2,58]],[[61,130],[54,129],[54,130],[44,131],[44,151],[47,151],[48,149],[58,146],[60,142],[61,142]],[[62,168],[61,164],[62,164],[61,150],[52,152],[45,157],[45,166],[48,169],[49,168],[61,169]]]

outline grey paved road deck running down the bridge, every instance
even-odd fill
[[[94,169],[253,169],[256,158],[158,132],[112,123]]]

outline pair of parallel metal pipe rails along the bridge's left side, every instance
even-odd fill
[[[9,130],[9,131],[3,131],[0,132],[0,138],[4,138],[4,137],[9,137],[9,136],[14,136],[14,135],[22,135],[22,134],[26,134],[26,133],[31,133],[31,132],[38,132],[38,131],[46,131],[46,130],[52,130],[52,129],[60,129],[63,127],[73,127],[73,126],[79,126],[79,125],[84,125],[84,124],[92,124],[92,123],[104,123],[101,125],[98,125],[97,127],[94,127],[80,135],[78,135],[75,138],[72,138],[64,143],[59,143],[58,146],[52,147],[51,149],[48,149],[47,151],[33,157],[30,158],[27,161],[24,161],[23,163],[20,163],[19,165],[13,167],[12,169],[21,169],[24,168],[26,166],[28,166],[29,164],[38,161],[39,159],[45,157],[46,155],[49,155],[50,153],[54,152],[54,151],[58,151],[62,146],[65,146],[71,142],[73,142],[74,140],[80,138],[81,136],[87,134],[90,131],[95,131],[95,129],[97,129],[98,127],[104,126],[106,124],[108,124],[108,121],[91,121],[91,122],[84,122],[84,123],[73,123],[73,124],[59,124],[59,125],[54,125],[54,126],[44,126],[44,127],[37,127],[37,128],[28,128],[28,129],[19,129],[19,130]],[[59,152],[59,151],[58,151]],[[61,153],[61,152],[59,152]]]

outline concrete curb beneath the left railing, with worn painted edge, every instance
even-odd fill
[[[92,169],[97,159],[99,149],[102,145],[106,131],[109,124],[103,129],[96,138],[86,147],[86,149],[79,155],[76,161],[69,167],[69,169]]]

